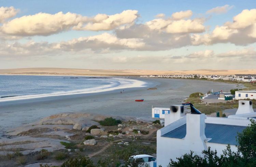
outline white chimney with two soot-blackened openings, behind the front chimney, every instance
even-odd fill
[[[181,119],[185,116],[183,105],[172,105],[170,106],[170,114],[165,114],[165,126]]]

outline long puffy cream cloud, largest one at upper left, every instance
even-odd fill
[[[15,18],[4,23],[1,27],[3,33],[18,36],[51,35],[61,31],[70,30],[71,27],[87,20],[86,17],[74,13],[62,12],[54,15],[38,13],[35,15]]]

